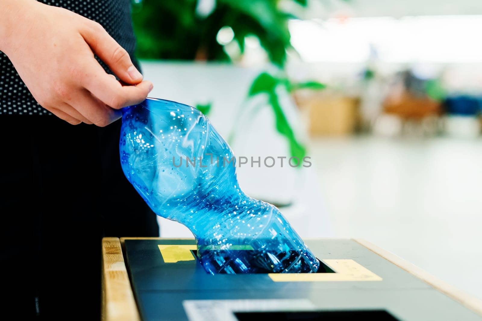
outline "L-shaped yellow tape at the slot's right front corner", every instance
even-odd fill
[[[268,273],[274,282],[382,281],[383,279],[351,259],[322,260],[335,273]]]

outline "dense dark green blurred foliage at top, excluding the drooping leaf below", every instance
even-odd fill
[[[288,20],[295,18],[282,8],[289,1],[306,7],[307,0],[211,0],[202,12],[202,0],[142,0],[133,3],[137,56],[141,59],[229,61],[216,36],[231,27],[234,41],[244,52],[244,39],[254,35],[273,64],[282,67],[291,48]],[[205,9],[204,9],[205,10]]]

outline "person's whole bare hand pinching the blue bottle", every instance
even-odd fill
[[[0,50],[35,100],[70,124],[106,126],[152,90],[98,23],[35,0],[0,0],[0,8]],[[94,53],[129,85],[108,75]]]

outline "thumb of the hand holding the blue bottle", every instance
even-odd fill
[[[129,53],[110,37],[100,24],[89,20],[86,28],[81,30],[81,35],[92,51],[120,80],[132,85],[142,81],[142,75],[134,67]]]

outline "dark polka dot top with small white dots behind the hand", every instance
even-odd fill
[[[39,0],[62,7],[101,24],[131,55],[134,61],[135,38],[130,0]],[[99,59],[108,73],[109,68]],[[0,51],[0,115],[51,115],[42,108],[18,76],[8,57]]]

